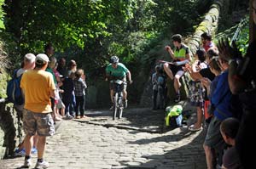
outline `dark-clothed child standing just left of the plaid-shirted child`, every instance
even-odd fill
[[[74,84],[73,80],[75,77],[75,72],[71,71],[69,76],[67,76],[63,81],[63,90],[64,93],[62,93],[62,100],[65,104],[65,113],[67,116],[67,119],[73,118],[73,112],[72,112],[72,106],[73,106],[73,96],[74,96]]]

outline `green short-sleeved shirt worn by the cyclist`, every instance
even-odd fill
[[[118,66],[116,69],[114,69],[111,64],[109,64],[106,68],[107,75],[114,76],[114,77],[125,77],[128,71],[129,70],[125,67],[125,65],[121,63],[118,63]]]

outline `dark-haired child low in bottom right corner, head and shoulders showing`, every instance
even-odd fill
[[[222,121],[220,132],[226,144],[231,147],[226,150],[223,156],[223,169],[241,169],[241,162],[236,150],[236,134],[239,128],[239,121],[235,118],[228,118]]]

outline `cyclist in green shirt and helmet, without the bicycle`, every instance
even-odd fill
[[[119,58],[117,56],[112,56],[109,60],[110,64],[106,68],[106,80],[122,80],[124,81],[124,90],[123,90],[123,100],[125,104],[125,108],[127,107],[127,91],[126,91],[126,78],[127,81],[131,84],[131,72],[128,70],[125,65],[119,63]],[[113,103],[113,83],[110,82],[110,99]]]

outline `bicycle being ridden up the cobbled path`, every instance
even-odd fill
[[[112,80],[113,83],[113,121],[118,116],[122,118],[124,103],[123,103],[123,90],[126,82],[121,80]]]

